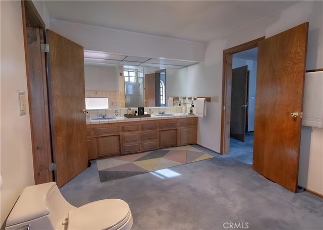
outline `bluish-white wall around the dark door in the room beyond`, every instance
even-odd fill
[[[234,55],[233,55],[234,56]],[[254,130],[254,106],[256,96],[257,62],[244,59],[232,59],[232,69],[248,66],[249,70],[249,94],[248,94],[248,132]]]

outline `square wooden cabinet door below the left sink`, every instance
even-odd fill
[[[97,156],[120,155],[120,136],[97,137]]]

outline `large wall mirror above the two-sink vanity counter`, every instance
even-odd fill
[[[109,108],[168,106],[168,97],[187,97],[187,67],[159,69],[85,62],[84,75],[85,96],[107,97]]]

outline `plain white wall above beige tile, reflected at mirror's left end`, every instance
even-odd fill
[[[84,65],[85,90],[119,91],[119,66]]]

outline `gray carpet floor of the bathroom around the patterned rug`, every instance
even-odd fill
[[[100,199],[125,200],[133,230],[323,229],[322,199],[259,177],[239,157],[203,150],[214,158],[103,183],[91,161],[60,191],[77,207]]]

